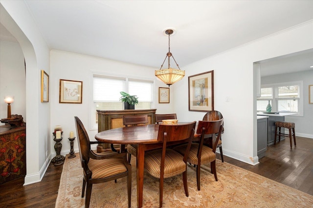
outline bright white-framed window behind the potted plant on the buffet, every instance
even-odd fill
[[[122,110],[123,103],[119,101],[121,91],[138,97],[135,109],[153,108],[153,81],[139,80],[128,77],[113,77],[99,74],[92,75],[92,126],[98,127],[96,110]]]

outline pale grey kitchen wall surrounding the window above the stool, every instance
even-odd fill
[[[286,116],[295,123],[295,135],[313,139],[313,104],[309,104],[309,85],[313,84],[313,70],[262,77],[262,84],[303,81],[303,116]]]

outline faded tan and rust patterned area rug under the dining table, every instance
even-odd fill
[[[132,208],[137,205],[136,166],[132,157]],[[188,166],[189,197],[185,196],[182,176],[164,180],[164,208],[313,208],[313,196],[263,176],[217,160],[218,181],[210,167],[202,166],[201,190],[197,189],[196,171]],[[66,158],[63,165],[56,208],[84,208],[81,198],[83,169],[79,154]],[[95,184],[90,208],[127,208],[126,178]],[[144,174],[143,207],[157,208],[158,179]]]

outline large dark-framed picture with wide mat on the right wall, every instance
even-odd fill
[[[188,77],[189,111],[214,110],[213,70]]]

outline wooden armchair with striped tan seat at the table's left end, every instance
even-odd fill
[[[127,177],[128,207],[131,207],[132,166],[127,161],[126,152],[120,154],[97,155],[90,148],[87,131],[81,120],[75,116],[79,155],[83,167],[82,198],[86,188],[85,208],[89,208],[92,184],[104,183]]]

